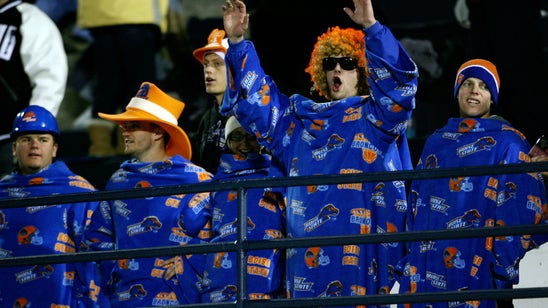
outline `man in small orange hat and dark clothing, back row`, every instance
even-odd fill
[[[192,161],[211,173],[217,172],[221,154],[227,152],[223,134],[226,117],[219,112],[226,90],[227,49],[225,31],[213,29],[207,39],[207,45],[192,53],[203,66],[205,91],[208,96],[208,106],[200,119],[198,130],[191,135],[195,153]]]

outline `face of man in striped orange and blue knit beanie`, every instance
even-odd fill
[[[488,118],[491,115],[491,92],[481,79],[466,79],[457,93],[461,118]]]

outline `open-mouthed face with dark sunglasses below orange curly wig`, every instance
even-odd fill
[[[329,87],[329,94],[331,96],[331,99],[338,100],[358,95],[357,66],[352,69],[346,70],[341,67],[341,62],[344,61],[342,59],[345,57],[338,55],[329,58],[341,59],[337,61],[337,64],[331,70],[328,70],[328,68],[331,67],[324,67],[324,69],[326,70],[327,85]],[[324,63],[325,62],[334,62],[334,60],[324,60]],[[348,62],[348,60],[346,60],[345,62]],[[345,66],[344,63],[342,66]]]

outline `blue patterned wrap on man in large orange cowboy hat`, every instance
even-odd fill
[[[211,174],[180,155],[120,166],[106,190],[184,185],[209,181]],[[101,203],[86,240],[109,250],[203,243],[211,237],[209,193],[121,199]],[[196,287],[204,256],[158,256],[101,264],[113,307],[174,306],[198,303]],[[171,270],[175,265],[176,271]],[[110,277],[110,278],[109,278]],[[109,278],[109,279],[108,279]]]

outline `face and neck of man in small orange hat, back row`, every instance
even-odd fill
[[[204,56],[204,81],[206,93],[215,96],[220,105],[226,90],[226,65],[214,52]]]

